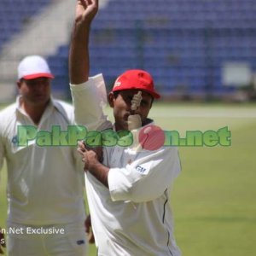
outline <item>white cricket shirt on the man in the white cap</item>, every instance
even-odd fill
[[[38,131],[51,125],[73,123],[73,108],[52,100],[38,124]],[[67,224],[84,214],[84,171],[76,147],[27,147],[17,144],[17,125],[34,125],[20,108],[20,98],[0,113],[0,169],[8,168],[8,218],[17,224]]]

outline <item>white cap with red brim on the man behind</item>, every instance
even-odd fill
[[[54,79],[47,62],[39,55],[26,56],[18,66],[18,79]]]

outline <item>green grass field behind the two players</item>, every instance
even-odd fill
[[[183,171],[172,191],[175,236],[184,256],[256,253],[256,105],[157,104],[150,113],[165,130],[228,126],[231,146],[179,148]],[[5,226],[6,170],[0,184]],[[159,184],[157,184],[159,185]],[[96,255],[90,247],[90,256]]]

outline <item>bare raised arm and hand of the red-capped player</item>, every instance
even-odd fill
[[[98,0],[78,0],[69,49],[69,77],[71,84],[88,80],[90,23],[98,10]]]

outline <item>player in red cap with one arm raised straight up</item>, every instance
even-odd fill
[[[160,96],[147,72],[129,70],[121,74],[108,95],[115,120],[113,125],[110,124],[102,112],[107,98],[102,75],[89,79],[90,23],[97,9],[97,0],[77,1],[70,47],[75,119],[79,125],[99,131],[111,127],[119,132],[129,129],[133,123],[132,132],[137,135],[143,131],[140,125],[153,124],[148,113],[154,98]],[[138,100],[139,91],[142,99]],[[131,109],[134,102],[140,102],[137,109]],[[172,181],[180,172],[177,148],[137,150],[132,145],[103,147],[101,151],[85,148],[80,143],[79,152],[84,160],[98,255],[180,255],[173,236],[170,208]]]

